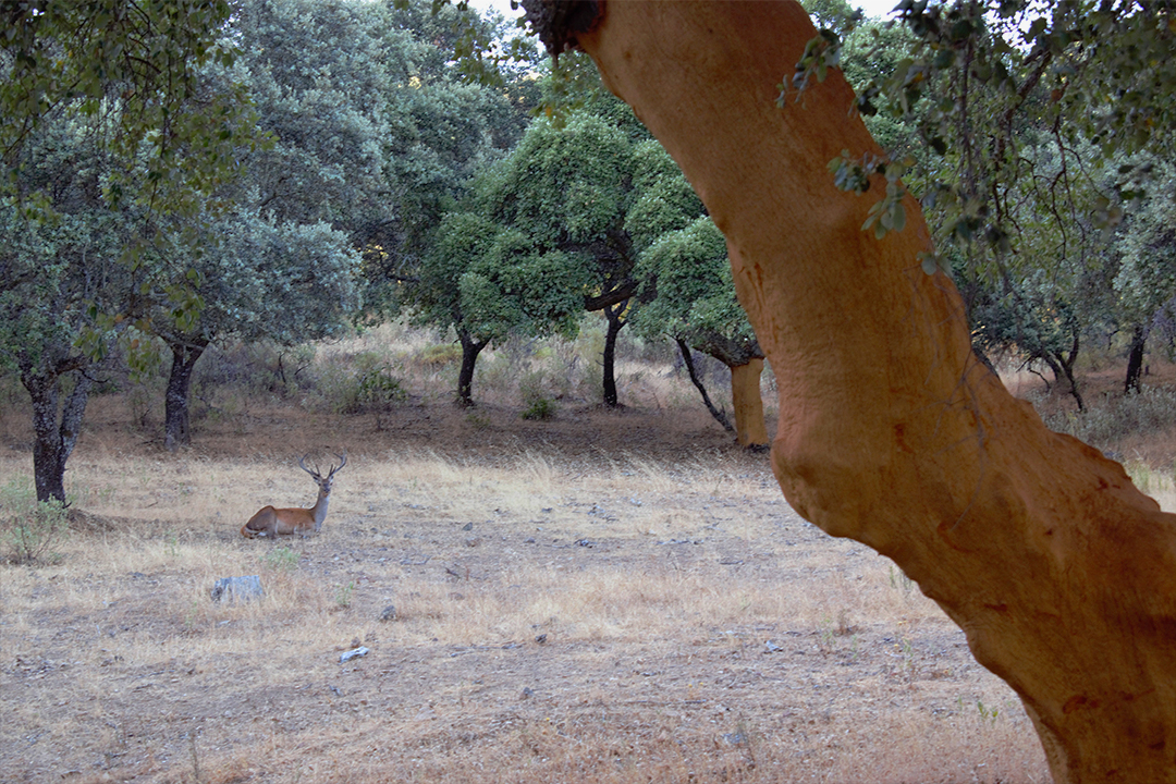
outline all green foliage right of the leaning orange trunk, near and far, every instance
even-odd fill
[[[824,29],[796,85],[840,62],[887,150],[843,152],[836,185],[884,177],[862,227],[876,236],[904,227],[906,187],[921,199],[923,269],[955,276],[981,351],[1069,375],[1080,339],[1147,334],[1176,294],[1170,4],[904,0],[897,22],[807,7]]]

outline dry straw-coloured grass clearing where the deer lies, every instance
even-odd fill
[[[1049,780],[962,634],[704,413],[255,407],[169,456],[123,408],[60,559],[0,565],[4,782]],[[322,532],[243,540],[310,448],[350,455]]]

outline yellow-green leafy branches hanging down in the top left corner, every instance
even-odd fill
[[[233,65],[236,53],[220,39],[232,12],[222,0],[6,5],[0,201],[15,197],[29,219],[52,216],[52,192],[25,183],[28,150],[46,125],[69,120],[95,132],[103,153],[141,163],[129,176],[111,168],[112,203],[192,212],[235,168],[234,147],[250,133],[238,91],[201,85],[205,69]]]

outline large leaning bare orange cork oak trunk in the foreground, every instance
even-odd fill
[[[976,361],[954,286],[920,269],[916,202],[901,234],[861,230],[871,196],[826,169],[877,150],[844,80],[775,103],[814,35],[801,6],[597,7],[579,43],[727,236],[780,369],[789,503],[938,602],[1021,696],[1058,782],[1176,780],[1174,518]]]

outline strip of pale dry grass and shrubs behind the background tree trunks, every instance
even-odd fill
[[[523,418],[548,420],[560,401],[600,403],[604,323],[586,317],[575,340],[512,339],[479,355],[475,402],[516,407]],[[730,395],[726,367],[696,355],[700,377],[722,403]],[[385,324],[349,337],[281,347],[268,342],[211,346],[193,374],[194,424],[232,421],[270,404],[308,413],[387,411],[412,401],[453,398],[461,347],[452,334],[406,324]],[[676,348],[622,333],[616,383],[621,403],[647,408],[700,406]],[[143,433],[162,427],[167,368],[123,377],[111,391],[125,393],[133,421]],[[774,409],[774,376],[764,373],[764,401]],[[729,408],[729,402],[726,403]]]

